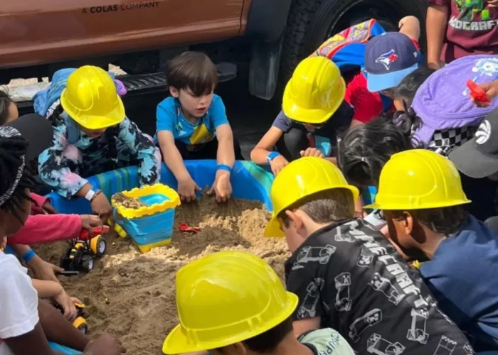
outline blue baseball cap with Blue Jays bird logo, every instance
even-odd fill
[[[408,35],[387,32],[376,35],[365,48],[366,86],[369,92],[397,87],[418,68],[420,52]]]

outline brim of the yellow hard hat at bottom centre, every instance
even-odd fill
[[[209,295],[206,295],[206,297],[209,297]],[[231,334],[226,334],[226,337],[223,339],[223,341],[193,342],[192,339],[189,339],[186,336],[183,329],[181,329],[181,325],[178,324],[176,327],[174,327],[173,330],[171,330],[166,339],[164,339],[162,352],[163,354],[184,354],[194,351],[218,349],[223,346],[242,342],[245,339],[250,339],[259,334],[262,334],[287,320],[287,318],[290,317],[296,310],[297,302],[297,295],[287,291],[287,307],[285,307],[282,312],[280,312],[280,315],[278,317],[273,318],[272,320],[267,322],[264,327],[260,327],[260,329],[257,330],[248,330],[248,332],[245,332],[243,334],[234,334],[233,336],[231,336]]]

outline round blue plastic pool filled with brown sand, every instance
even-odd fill
[[[204,187],[214,180],[216,162],[186,162],[194,180]],[[91,179],[108,197],[138,185],[136,168],[116,170]],[[166,168],[161,182],[176,188]],[[128,354],[161,354],[166,334],[177,324],[174,277],[189,261],[221,250],[245,250],[264,258],[283,278],[289,256],[284,239],[267,239],[263,229],[272,206],[268,192],[272,175],[249,162],[237,162],[233,170],[234,200],[218,204],[203,195],[198,202],[176,207],[174,233],[169,246],[139,253],[129,239],[107,236],[107,254],[94,270],[78,277],[65,277],[65,290],[88,307],[90,335],[110,332],[120,337]],[[67,202],[57,196],[53,204],[59,212],[89,213],[88,202]],[[265,208],[267,207],[267,208]],[[179,231],[188,223],[201,230]],[[47,261],[58,263],[67,244],[38,246]],[[208,295],[206,295],[208,297]]]

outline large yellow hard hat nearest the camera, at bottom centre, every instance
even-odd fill
[[[164,340],[164,354],[218,349],[287,320],[297,307],[265,261],[243,251],[220,251],[176,273],[180,324]]]

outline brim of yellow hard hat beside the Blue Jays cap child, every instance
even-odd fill
[[[340,80],[344,82],[344,79],[342,77]],[[343,83],[341,87],[346,87],[346,84]],[[285,116],[287,116],[292,121],[298,121],[303,124],[323,124],[332,117],[337,109],[339,109],[339,106],[341,106],[342,102],[344,101],[345,92],[346,90],[344,89],[340,94],[340,97],[342,97],[343,99],[335,102],[334,106],[330,107],[330,109],[328,110],[305,109],[304,107],[299,107],[297,104],[292,104],[292,102],[294,102],[294,99],[292,99],[292,96],[290,94],[289,81],[287,82],[287,85],[285,85],[284,89],[282,111],[284,112]]]

